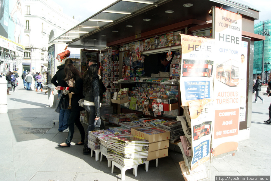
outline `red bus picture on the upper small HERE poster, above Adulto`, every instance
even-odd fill
[[[183,77],[211,77],[213,74],[213,61],[211,60],[185,60],[183,59]]]

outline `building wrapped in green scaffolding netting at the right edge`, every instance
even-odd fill
[[[263,23],[264,23],[264,30],[268,34],[271,33],[271,20],[261,21],[254,25],[254,33],[263,35]],[[264,56],[263,56],[263,41],[254,41],[254,62],[253,62],[253,77],[261,75],[262,73],[262,66],[264,66],[263,70],[270,72],[271,68],[271,36],[265,36],[264,40]],[[263,65],[263,60],[264,64]],[[268,64],[268,62],[270,64]],[[264,77],[266,74],[264,74]]]

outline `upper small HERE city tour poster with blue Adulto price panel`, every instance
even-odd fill
[[[182,106],[195,100],[213,100],[215,40],[181,35],[182,69],[180,88]]]

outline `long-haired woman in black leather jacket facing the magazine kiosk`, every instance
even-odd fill
[[[87,74],[84,78],[84,88],[83,95],[84,98],[84,108],[89,113],[89,126],[85,135],[85,143],[83,154],[88,155],[88,134],[89,131],[99,130],[101,125],[100,118],[100,91],[101,84],[98,77],[98,64],[93,63],[89,66]]]

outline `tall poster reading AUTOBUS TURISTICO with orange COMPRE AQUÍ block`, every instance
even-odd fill
[[[240,73],[246,75],[241,65],[240,14],[215,7],[214,37],[216,40],[216,76],[214,78],[214,109],[212,148],[214,156],[237,150],[240,87]],[[242,76],[243,76],[242,75]],[[245,91],[244,94],[245,95]],[[245,107],[244,107],[245,109]]]

